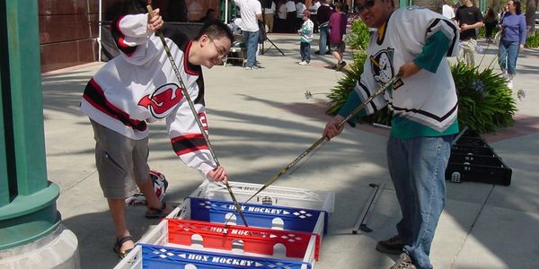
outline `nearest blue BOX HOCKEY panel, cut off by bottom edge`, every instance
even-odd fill
[[[149,244],[137,244],[116,269],[142,268],[256,268],[256,269],[311,269],[312,265],[294,260],[264,258],[257,256],[239,256],[225,253],[163,247]]]

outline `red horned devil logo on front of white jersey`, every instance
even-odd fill
[[[138,101],[138,105],[148,109],[152,116],[163,118],[171,113],[181,99],[183,99],[183,94],[180,87],[175,83],[168,83],[144,96]]]

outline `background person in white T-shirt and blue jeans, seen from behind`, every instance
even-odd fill
[[[258,69],[256,64],[256,51],[259,44],[259,21],[262,21],[262,7],[258,0],[234,0],[234,3],[240,7],[240,28],[245,39],[245,48],[247,48],[247,63],[245,70]]]

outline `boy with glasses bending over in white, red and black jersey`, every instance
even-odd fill
[[[146,196],[147,218],[162,218],[172,211],[170,205],[159,201],[149,179],[146,123],[166,120],[172,149],[181,161],[210,180],[227,178],[225,169],[216,167],[211,158],[155,30],[163,30],[181,79],[205,127],[201,65],[211,68],[222,62],[233,36],[224,23],[212,21],[190,40],[178,29],[163,27],[158,9],[151,19],[149,14],[120,17],[111,28],[120,55],[103,65],[88,82],[81,110],[90,117],[93,126],[100,185],[115,226],[114,250],[123,257],[134,246],[126,223],[124,199],[133,195],[135,183]]]

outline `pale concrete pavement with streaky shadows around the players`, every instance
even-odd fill
[[[323,66],[332,65],[333,57],[313,55],[312,65],[296,65],[298,37],[273,34],[270,39],[286,56],[270,48],[260,56],[264,68],[204,70],[210,139],[230,180],[265,182],[314,143],[331,118],[324,114],[324,93],[342,74]],[[265,45],[268,48],[270,43]],[[485,51],[482,67],[494,54],[491,48]],[[352,62],[350,51],[345,58]],[[526,91],[526,98],[517,100],[516,125],[486,136],[513,169],[512,184],[447,183],[446,210],[431,252],[436,268],[539,265],[538,58],[538,50],[526,49],[517,62],[514,89]],[[112,251],[112,221],[94,166],[92,127],[78,110],[85,83],[101,66],[95,63],[43,74],[42,80],[48,176],[61,188],[57,208],[64,225],[79,240],[83,268],[110,268],[119,261]],[[314,99],[306,100],[305,91],[314,93]],[[150,166],[169,180],[167,201],[180,202],[202,178],[172,152],[163,123],[151,128]],[[393,236],[399,220],[386,169],[386,135],[384,129],[347,127],[275,183],[336,195],[335,213],[316,268],[387,268],[398,258],[374,249],[377,240]],[[382,182],[387,185],[369,223],[374,231],[352,235],[350,230],[371,191],[368,184]],[[144,213],[141,206],[128,208],[129,227],[137,239],[157,223],[146,220]]]

